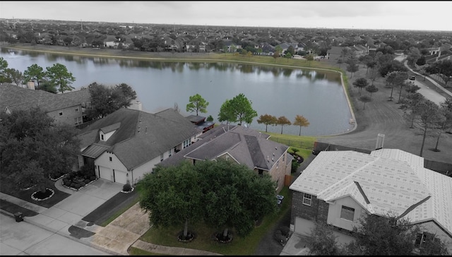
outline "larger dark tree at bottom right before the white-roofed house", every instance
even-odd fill
[[[359,219],[359,225],[353,227],[356,241],[345,246],[349,255],[412,255],[417,247],[417,234],[421,232],[420,227],[412,225],[410,220],[405,217],[398,218],[393,213],[366,215]],[[433,238],[435,240],[426,241],[425,244],[439,240]],[[447,253],[444,243],[436,245],[440,247],[439,252]]]

